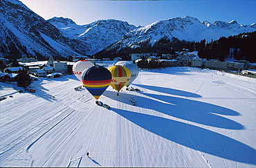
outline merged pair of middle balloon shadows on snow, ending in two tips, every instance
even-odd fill
[[[131,104],[131,102],[129,102],[131,95],[129,94],[120,95],[122,96],[121,98],[120,96],[113,95],[113,93],[110,93],[109,91],[106,93],[106,95],[107,97],[118,102]],[[244,129],[244,127],[238,122],[220,116],[239,115],[239,113],[231,109],[205,102],[199,102],[196,100],[187,100],[180,97],[154,95],[150,93],[143,93],[143,95],[153,97],[154,99],[132,95],[136,102],[136,106],[144,109],[152,109],[166,115],[211,127],[234,130]],[[161,100],[161,102],[157,100]]]

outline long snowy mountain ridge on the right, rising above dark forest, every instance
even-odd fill
[[[220,37],[229,37],[238,35],[242,32],[256,31],[256,24],[244,26],[237,23],[237,21],[215,21],[211,24],[208,21],[199,21],[194,17],[176,17],[156,21],[145,27],[132,30],[127,33],[120,41],[113,44],[112,48],[137,48],[141,44],[155,44],[159,39],[170,39],[175,37],[179,40],[185,41],[201,41],[206,39],[211,41],[219,39]]]

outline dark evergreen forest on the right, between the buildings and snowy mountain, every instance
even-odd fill
[[[167,37],[156,41],[154,46],[149,44],[149,40],[143,41],[143,43],[136,44],[138,48],[108,48],[95,54],[95,58],[110,57],[122,57],[123,60],[129,60],[129,54],[131,53],[158,53],[172,54],[180,52],[183,48],[190,51],[199,51],[198,55],[201,58],[206,59],[219,59],[224,61],[228,57],[234,57],[235,59],[245,59],[249,62],[256,62],[256,32],[241,33],[236,36],[221,37],[216,41],[207,42],[205,39],[195,41],[179,40],[173,37],[171,40]],[[118,50],[118,52],[116,51]]]

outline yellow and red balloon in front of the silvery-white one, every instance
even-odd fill
[[[125,66],[111,66],[108,69],[112,75],[110,85],[118,91],[117,95],[119,95],[119,91],[129,82],[131,72]]]

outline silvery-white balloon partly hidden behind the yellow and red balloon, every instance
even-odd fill
[[[133,63],[127,62],[127,61],[120,61],[120,62],[117,62],[115,65],[116,66],[125,66],[126,68],[129,68],[129,71],[131,72],[131,80],[129,80],[129,82],[126,84],[126,86],[128,88],[129,85],[132,82],[134,82],[136,77],[138,77],[138,73],[139,73],[138,66],[136,66],[136,64],[133,64]]]

